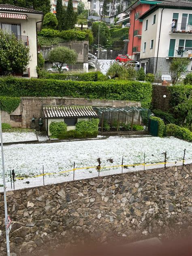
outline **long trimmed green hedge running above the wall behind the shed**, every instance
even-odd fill
[[[152,99],[152,85],[139,81],[62,81],[54,79],[0,79],[2,96],[35,96],[92,98],[105,100],[139,101],[142,107],[149,108]]]

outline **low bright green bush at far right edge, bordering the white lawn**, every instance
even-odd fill
[[[178,139],[192,141],[192,132],[187,128],[178,126],[176,124],[167,124],[165,126],[165,134],[166,136],[173,136]]]

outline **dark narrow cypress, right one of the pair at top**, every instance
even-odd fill
[[[64,23],[63,29],[70,30],[75,28],[75,24],[77,23],[77,12],[73,10],[73,1],[68,0],[68,6],[66,9],[66,13],[64,15]]]

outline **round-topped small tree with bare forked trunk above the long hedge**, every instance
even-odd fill
[[[77,57],[77,52],[68,47],[56,47],[49,53],[49,61],[55,62],[55,66],[57,66],[59,73],[61,73],[64,63],[75,64],[77,62]]]

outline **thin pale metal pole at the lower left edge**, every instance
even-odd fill
[[[5,168],[4,168],[4,154],[3,154],[3,137],[2,137],[2,125],[1,125],[1,106],[0,106],[0,137],[1,137],[1,156],[2,156],[2,169],[3,169],[5,230],[6,230],[6,224],[7,224],[7,203],[6,203],[6,182],[5,182]],[[8,230],[6,230],[6,250],[7,250],[7,256],[10,256],[10,245],[9,245]]]

